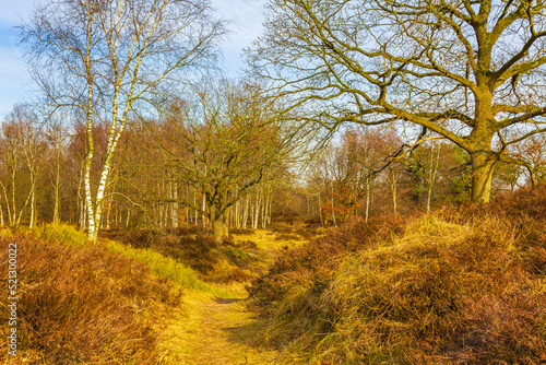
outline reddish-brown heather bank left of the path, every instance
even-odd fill
[[[1,251],[8,252],[11,243],[16,243],[19,252],[17,362],[155,364],[159,361],[159,329],[153,323],[163,311],[180,305],[178,287],[152,275],[144,263],[98,245],[75,247],[29,234],[14,234],[0,238]],[[8,297],[7,261],[2,255],[3,298]],[[1,310],[0,348],[4,350],[9,330],[8,311]],[[8,357],[4,351],[1,358],[8,361]]]

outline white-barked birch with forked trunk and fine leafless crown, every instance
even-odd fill
[[[58,0],[38,5],[20,31],[34,80],[49,103],[85,115],[87,237],[95,240],[131,113],[165,87],[176,90],[188,72],[213,64],[224,24],[212,17],[207,1]],[[94,123],[108,131],[97,181],[91,177]]]

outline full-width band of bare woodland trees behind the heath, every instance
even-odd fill
[[[224,89],[206,98],[216,107],[209,103],[211,115],[199,122],[191,113],[203,105],[181,103],[161,122],[131,123],[111,166],[100,228],[211,226],[215,220],[225,225],[221,231],[265,227],[273,220],[328,225],[351,217],[367,221],[411,210],[428,212],[470,199],[470,160],[452,143],[430,138],[407,149],[393,129],[353,128],[311,162],[295,165],[301,151],[294,148],[293,138],[299,134],[272,122],[278,114],[266,114],[266,104],[258,103],[257,95],[244,94]],[[72,122],[41,122],[23,105],[4,118],[2,225],[62,221],[86,227],[85,128]],[[97,123],[93,139],[97,158],[91,178],[98,181],[107,129]],[[494,191],[544,180],[539,142],[512,151],[520,160],[533,161],[534,168],[497,166]],[[302,165],[305,174],[298,178]]]

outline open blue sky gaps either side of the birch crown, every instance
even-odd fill
[[[46,1],[46,0],[41,0]],[[16,46],[14,26],[32,13],[36,0],[0,0],[0,119],[10,113],[16,103],[28,101],[33,82]],[[265,0],[212,0],[217,14],[233,23],[229,39],[222,44],[225,70],[228,76],[238,75],[245,67],[242,49],[262,32]],[[8,4],[7,4],[8,3]]]

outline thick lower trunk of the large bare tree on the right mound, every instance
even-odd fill
[[[491,197],[492,170],[497,163],[491,152],[471,152],[472,195],[475,203],[488,203]]]

